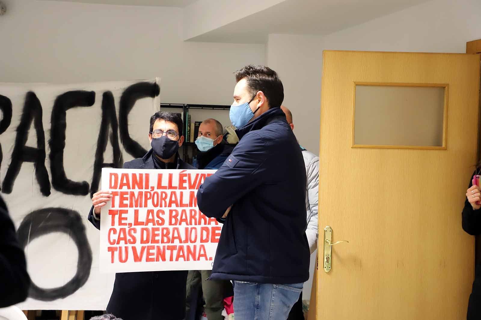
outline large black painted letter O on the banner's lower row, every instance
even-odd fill
[[[29,296],[40,301],[53,301],[74,294],[89,279],[92,250],[80,214],[65,208],[44,208],[27,214],[18,227],[17,237],[23,249],[35,238],[52,232],[63,232],[74,240],[78,250],[77,272],[69,282],[57,288],[40,288],[32,283]],[[63,261],[59,261],[63,263]]]

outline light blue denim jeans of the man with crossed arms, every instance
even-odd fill
[[[235,281],[236,320],[286,320],[304,284],[256,284]]]

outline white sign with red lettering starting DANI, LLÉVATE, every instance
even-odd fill
[[[102,273],[212,270],[222,225],[197,207],[216,170],[102,169]]]

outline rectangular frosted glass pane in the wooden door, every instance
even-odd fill
[[[445,89],[356,85],[354,146],[443,147]]]

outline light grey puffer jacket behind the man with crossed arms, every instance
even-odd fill
[[[319,157],[303,148],[305,174],[307,177],[305,207],[307,229],[305,234],[311,253],[317,249],[317,199],[319,192]]]

